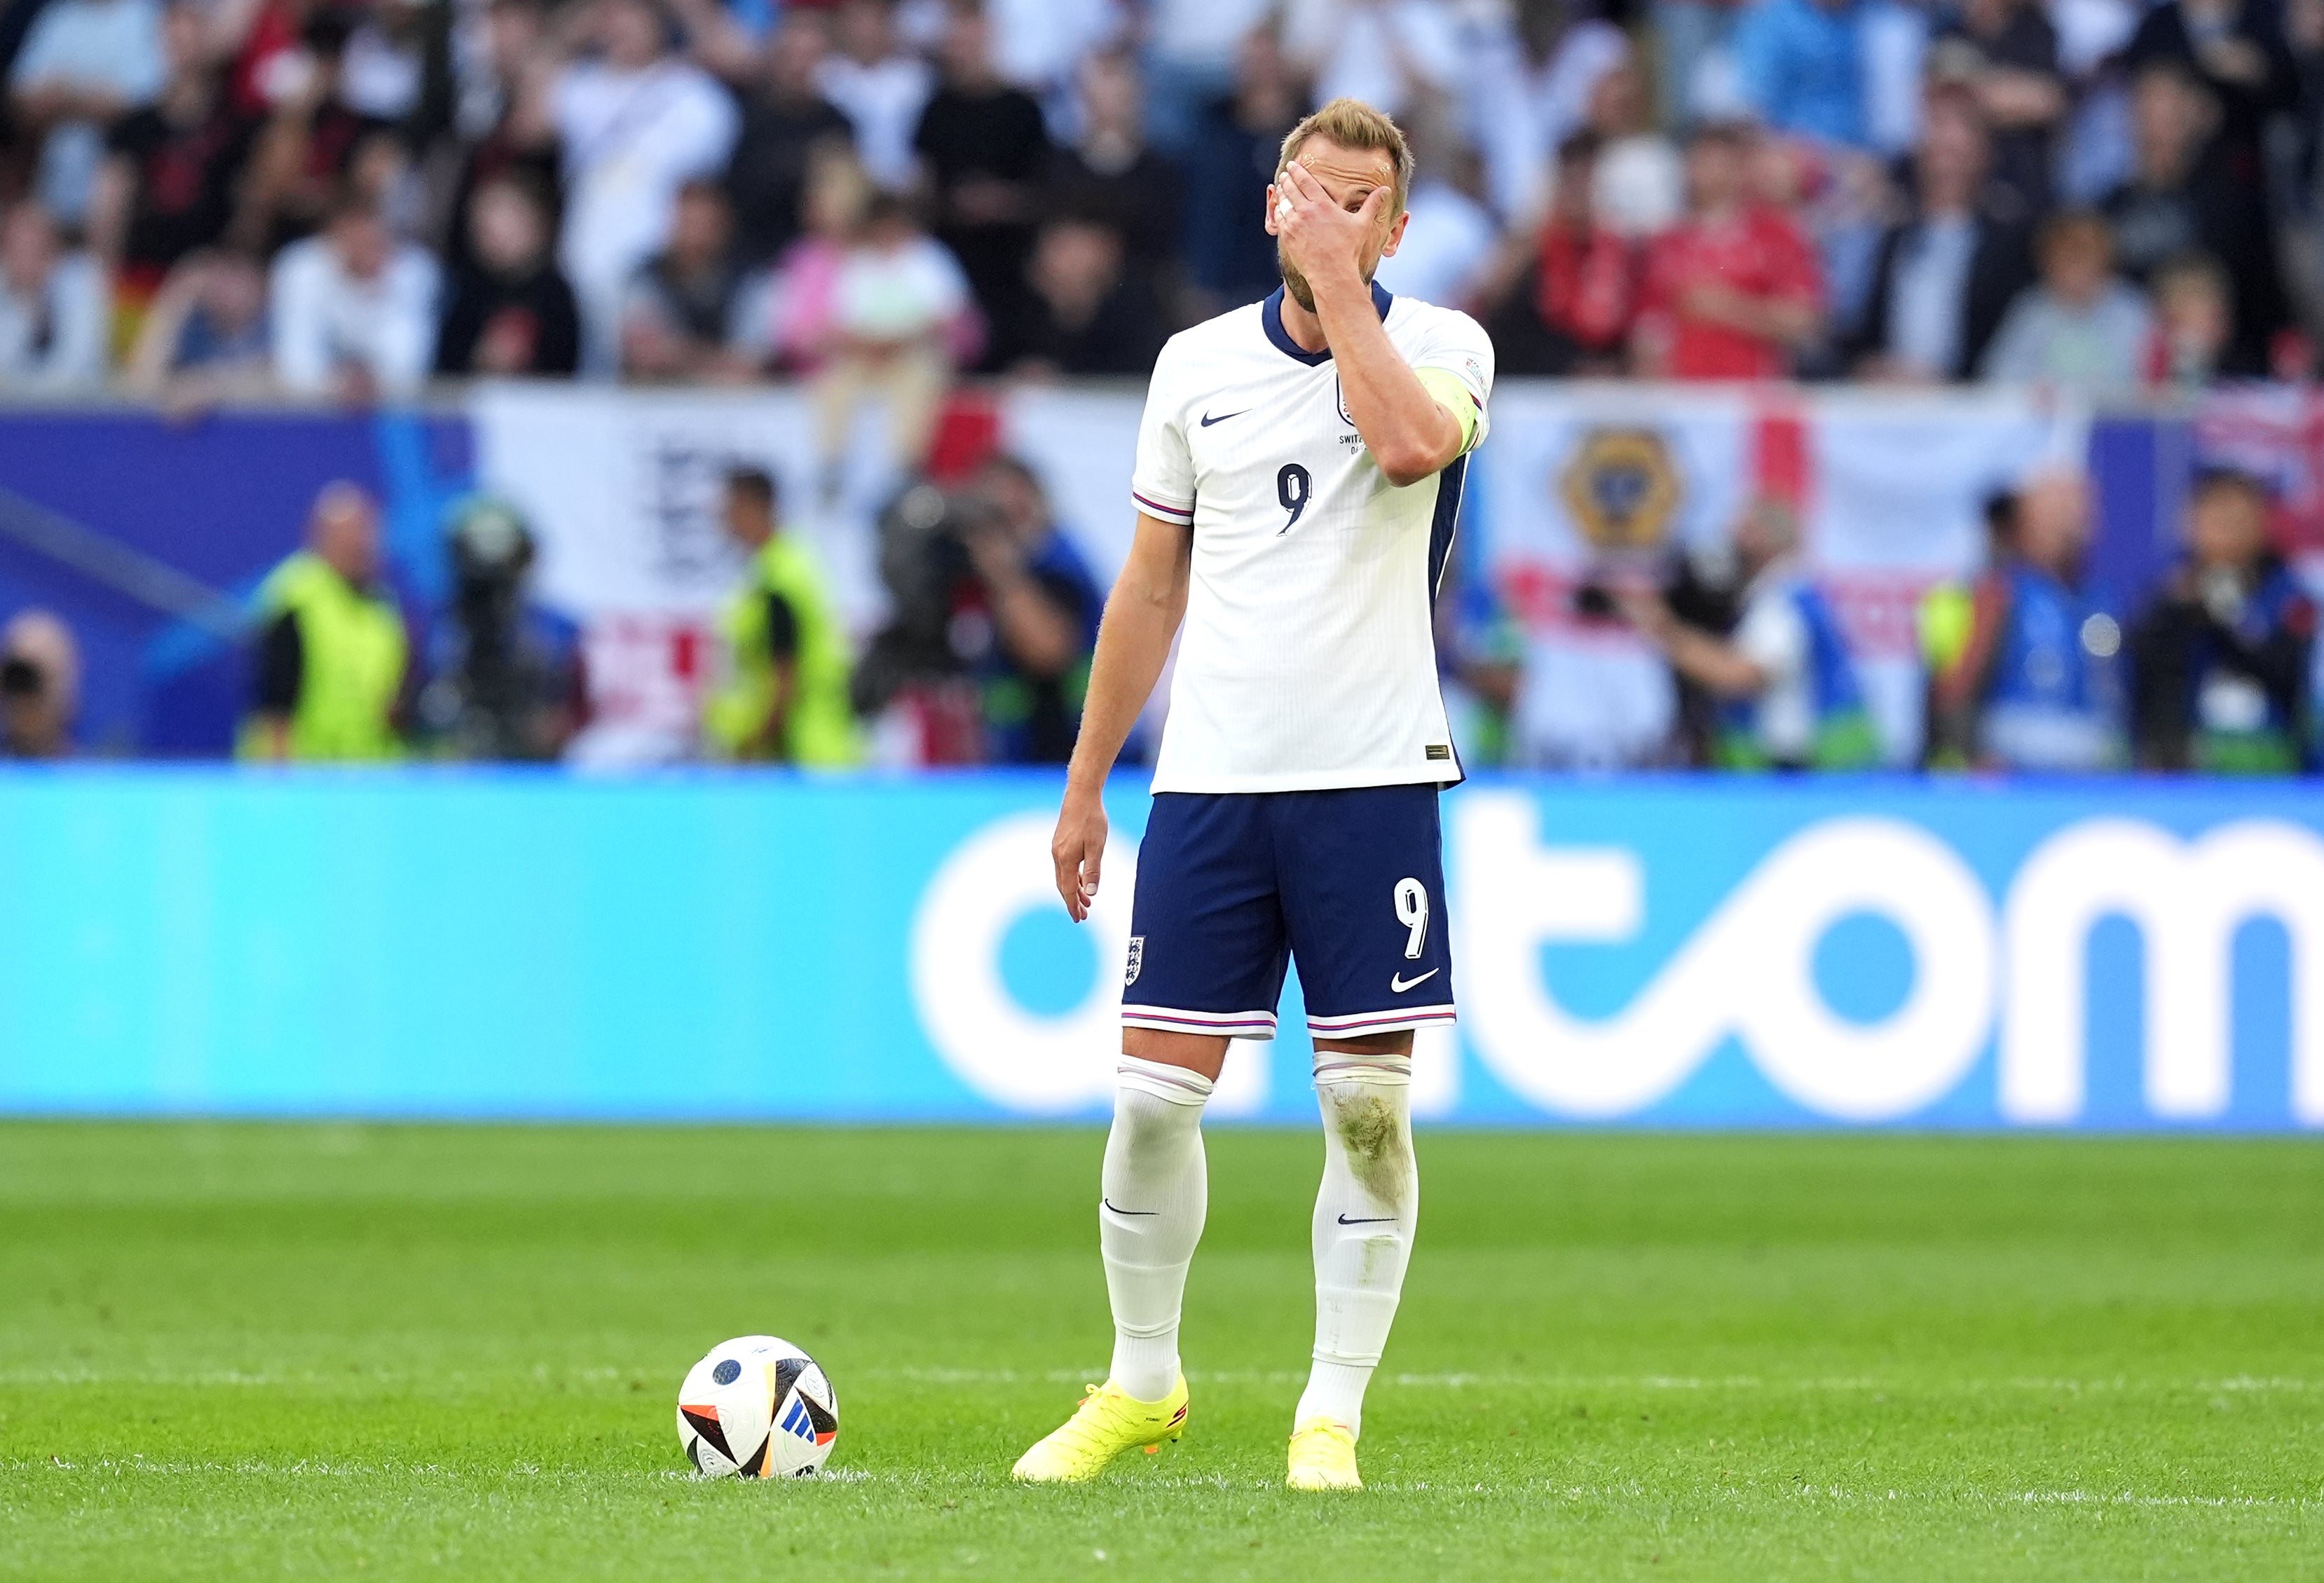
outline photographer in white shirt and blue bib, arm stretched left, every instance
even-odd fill
[[[1676,679],[1717,700],[1722,769],[1859,769],[1880,760],[1864,690],[1824,595],[1799,565],[1799,518],[1759,500],[1736,525],[1743,614],[1734,635],[1680,621],[1664,595],[1618,590],[1622,616]]]

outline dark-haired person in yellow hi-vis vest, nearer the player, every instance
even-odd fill
[[[848,642],[813,553],[776,516],[774,474],[732,467],[727,537],[748,574],[718,618],[723,679],[702,707],[713,755],[734,762],[853,765]]]

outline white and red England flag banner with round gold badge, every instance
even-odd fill
[[[1908,762],[1922,595],[1975,572],[1994,493],[2047,463],[2080,465],[2085,449],[2085,414],[2024,393],[1506,386],[1459,567],[1471,621],[1501,625],[1522,653],[1513,758],[1662,758],[1669,672],[1585,590],[1662,576],[1680,558],[1715,563],[1736,521],[1776,502],[1841,616],[1887,758]]]

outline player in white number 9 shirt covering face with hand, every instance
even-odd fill
[[[1202,1106],[1227,1041],[1271,1039],[1299,958],[1325,1174],[1315,1362],[1290,1485],[1360,1488],[1364,1385],[1420,1211],[1413,1030],[1452,1020],[1436,790],[1462,769],[1429,607],[1492,344],[1371,284],[1408,221],[1394,121],[1334,100],[1267,188],[1283,288],[1174,337],[1139,425],[1136,537],[1106,602],[1053,855],[1097,895],[1102,790],[1178,646],[1139,851],[1122,1060],[1097,1211],[1113,1369],[1016,1476],[1095,1478],[1185,1430],[1178,1306],[1206,1204]]]

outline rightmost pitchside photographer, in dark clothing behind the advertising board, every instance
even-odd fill
[[[2187,558],[2131,630],[2140,769],[2298,774],[2310,760],[2317,609],[2268,546],[2268,490],[2210,470],[2187,500]]]

